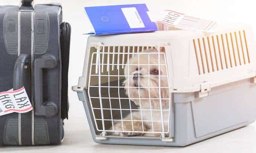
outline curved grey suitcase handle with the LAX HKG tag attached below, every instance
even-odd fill
[[[15,62],[13,74],[13,89],[21,89],[25,84],[30,84],[30,60],[28,54],[21,54]],[[26,83],[24,83],[26,81]],[[30,91],[30,90],[29,90]]]

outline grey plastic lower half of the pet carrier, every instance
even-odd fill
[[[209,96],[197,98],[197,93],[172,93],[172,142],[159,138],[111,137],[104,140],[95,128],[87,92],[80,90],[91,134],[102,144],[155,145],[181,147],[226,133],[253,123],[256,118],[256,84],[251,79],[215,87]]]

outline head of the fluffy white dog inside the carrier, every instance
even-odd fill
[[[169,83],[164,55],[158,54],[156,49],[148,49],[144,53],[131,57],[129,65],[125,66],[123,85],[126,95],[142,109],[149,109],[150,104],[152,109],[160,109],[160,99],[162,108],[168,108]]]

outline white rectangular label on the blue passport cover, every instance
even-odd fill
[[[145,25],[137,11],[136,7],[122,8],[123,14],[130,26],[130,28],[145,28]]]

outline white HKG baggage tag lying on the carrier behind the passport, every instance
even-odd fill
[[[200,31],[212,31],[216,27],[215,21],[204,20],[202,18],[191,17],[183,13],[172,10],[165,10],[161,14],[161,19],[157,23],[166,24],[168,26]]]

